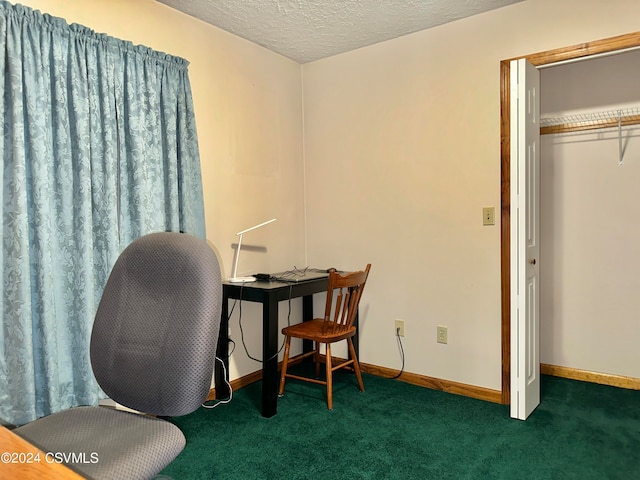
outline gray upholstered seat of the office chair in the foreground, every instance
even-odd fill
[[[45,454],[66,454],[71,461],[63,463],[100,479],[153,478],[186,444],[180,429],[166,420],[107,407],[65,410],[14,432]]]

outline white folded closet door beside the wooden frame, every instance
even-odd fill
[[[540,404],[540,72],[511,62],[511,417]]]

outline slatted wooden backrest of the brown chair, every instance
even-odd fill
[[[332,333],[348,330],[353,325],[370,269],[368,264],[363,271],[345,275],[335,270],[329,272],[324,319],[331,322]]]

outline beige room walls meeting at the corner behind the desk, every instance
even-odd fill
[[[493,389],[500,235],[481,211],[500,202],[499,62],[640,30],[636,0],[527,0],[300,67],[151,0],[24,3],[191,62],[207,236],[225,273],[235,232],[278,217],[245,239],[268,252],[243,253],[241,271],[372,262],[362,361],[400,367],[401,318],[407,371]],[[258,309],[244,305],[243,326],[260,355]],[[237,378],[259,364],[237,313],[231,330]]]

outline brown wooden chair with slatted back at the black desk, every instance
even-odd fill
[[[282,371],[280,373],[280,391],[284,394],[285,378],[295,378],[306,382],[318,383],[327,386],[327,406],[329,410],[333,410],[333,372],[340,368],[350,367],[355,371],[358,379],[360,391],[364,391],[362,383],[362,375],[360,373],[360,364],[353,347],[352,337],[356,334],[356,327],[353,322],[358,312],[358,304],[364,290],[364,285],[369,276],[371,264],[358,272],[340,275],[335,270],[329,273],[329,286],[327,288],[327,303],[324,312],[324,318],[316,318],[296,325],[283,328],[282,333],[286,337],[284,348],[284,360],[282,362]],[[292,338],[301,338],[303,340],[311,340],[315,342],[315,349],[311,352],[304,353],[297,357],[302,359],[313,356],[316,366],[316,378],[303,377],[287,373],[289,364],[289,350]],[[351,358],[341,361],[337,365],[333,365],[331,358],[331,344],[346,340],[349,347]],[[320,354],[320,345],[326,346],[325,355]],[[320,380],[320,364],[325,364],[326,380]]]

